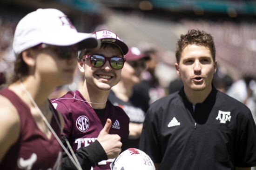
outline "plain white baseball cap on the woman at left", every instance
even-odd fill
[[[90,33],[78,33],[67,16],[54,8],[37,9],[28,13],[18,23],[13,51],[19,55],[40,43],[54,46],[79,44],[83,48],[99,48],[100,41]]]

